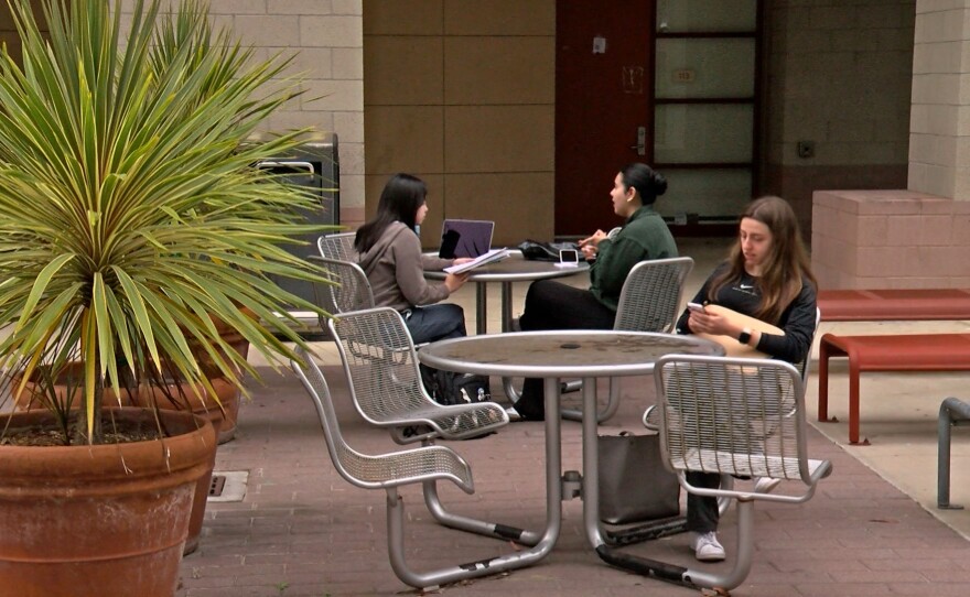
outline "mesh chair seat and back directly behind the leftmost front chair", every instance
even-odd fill
[[[428,395],[411,335],[397,311],[343,313],[327,326],[357,411],[369,423],[389,427],[398,443],[464,439],[508,424],[505,409],[494,402],[445,406]]]

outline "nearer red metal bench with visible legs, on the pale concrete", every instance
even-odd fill
[[[822,422],[829,421],[829,357],[849,357],[849,442],[859,444],[862,371],[970,370],[970,334],[823,335],[819,340],[818,403],[818,420]],[[869,444],[869,439],[862,443]]]

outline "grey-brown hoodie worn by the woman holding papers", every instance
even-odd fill
[[[448,298],[448,286],[443,282],[429,284],[424,271],[442,270],[452,260],[422,254],[418,235],[400,221],[388,226],[357,262],[370,281],[379,307],[403,311]]]

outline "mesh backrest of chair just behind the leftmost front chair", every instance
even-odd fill
[[[344,313],[327,326],[364,419],[381,424],[435,404],[421,383],[414,345],[397,311],[379,307]]]

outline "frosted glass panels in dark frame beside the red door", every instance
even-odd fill
[[[656,6],[654,164],[669,182],[659,209],[672,220],[675,235],[703,235],[709,222],[733,227],[757,192],[762,2],[657,0]],[[719,228],[712,234],[733,234]]]

